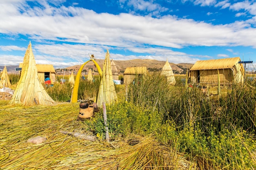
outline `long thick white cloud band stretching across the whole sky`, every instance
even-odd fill
[[[47,10],[47,9],[44,9]],[[27,14],[4,15],[0,18],[0,32],[30,35],[31,39],[59,40],[108,46],[136,46],[140,43],[154,44],[173,48],[187,45],[232,45],[250,44],[254,40],[241,41],[245,22],[230,25],[212,25],[188,19],[177,19],[172,16],[151,18],[127,13],[112,15],[95,13],[76,7],[55,9],[54,15],[44,15],[43,10],[27,10]],[[64,12],[63,12],[64,11]],[[40,13],[40,16],[38,16]],[[72,13],[74,17],[63,15]],[[42,14],[42,15],[41,15]],[[12,22],[9,22],[9,21]],[[239,26],[239,27],[238,27]],[[250,30],[253,34],[255,29]],[[251,38],[250,35],[243,35]],[[234,38],[237,37],[237,38]]]

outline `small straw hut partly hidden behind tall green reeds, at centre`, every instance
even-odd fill
[[[141,67],[127,67],[124,71],[124,84],[132,83],[136,76],[147,75],[148,70],[146,66]]]

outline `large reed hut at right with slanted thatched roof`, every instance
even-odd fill
[[[218,84],[218,71],[221,84],[244,82],[245,69],[240,61],[240,57],[197,61],[189,70],[190,82]]]

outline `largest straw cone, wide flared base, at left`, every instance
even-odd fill
[[[24,56],[20,80],[9,104],[23,104],[25,106],[55,104],[38,79],[31,42],[29,42]]]

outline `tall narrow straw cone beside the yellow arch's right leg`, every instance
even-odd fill
[[[111,104],[117,100],[117,93],[115,91],[115,85],[112,77],[110,54],[107,50],[105,61],[103,64],[102,79],[99,86],[99,93],[97,98],[97,104],[102,106],[102,102]]]

